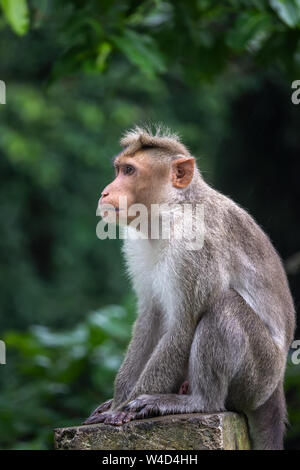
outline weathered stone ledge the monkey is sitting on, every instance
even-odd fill
[[[245,418],[232,412],[179,414],[54,430],[58,450],[246,450]]]

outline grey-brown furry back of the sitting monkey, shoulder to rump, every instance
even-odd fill
[[[278,253],[248,212],[214,189],[208,192],[204,203],[206,236],[218,245],[216,252],[224,260],[230,287],[259,315],[276,344],[288,349],[295,309]]]

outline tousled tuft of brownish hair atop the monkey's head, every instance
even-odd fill
[[[190,155],[187,147],[181,143],[179,136],[160,124],[155,125],[153,130],[151,126],[135,126],[123,135],[120,143],[124,148],[123,155],[133,155],[138,150],[151,148],[161,149],[171,155]]]

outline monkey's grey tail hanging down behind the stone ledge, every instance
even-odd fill
[[[256,410],[247,412],[251,449],[281,450],[287,420],[283,384]]]

